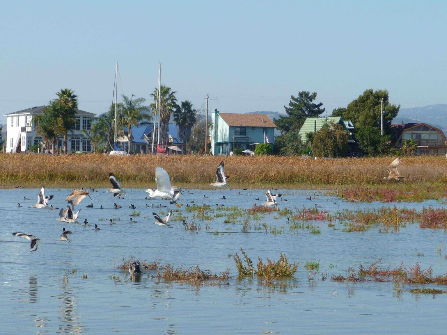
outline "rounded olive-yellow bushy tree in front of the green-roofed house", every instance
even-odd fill
[[[348,153],[349,134],[339,123],[324,125],[314,134],[313,155],[317,157],[339,157]]]

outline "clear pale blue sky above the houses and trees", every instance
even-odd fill
[[[72,88],[80,108],[162,83],[203,107],[283,113],[316,91],[329,113],[367,88],[402,107],[447,103],[447,2],[1,1],[0,122]],[[210,109],[216,100],[210,100]]]

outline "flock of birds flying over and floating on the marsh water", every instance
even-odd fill
[[[397,171],[397,167],[400,163],[400,159],[396,158],[395,160],[392,161],[392,163],[388,166],[388,176],[385,176],[383,179],[384,180],[396,180],[396,182],[401,181],[402,176],[400,176],[399,172]],[[224,169],[224,163],[221,162],[219,164],[219,167],[217,167],[216,170],[216,182],[209,184],[209,186],[214,186],[217,188],[230,188],[230,185],[228,184],[228,179],[230,176],[225,176],[225,169]],[[110,173],[109,174],[109,180],[110,180],[110,184],[112,184],[112,188],[106,190],[105,192],[108,193],[112,193],[115,197],[121,198],[121,197],[126,197],[126,192],[121,188],[121,185],[117,179],[117,177],[113,174]],[[149,193],[149,198],[146,197],[146,199],[152,199],[155,197],[160,197],[163,200],[169,200],[170,204],[175,204],[177,205],[177,207],[180,207],[179,204],[177,204],[177,201],[180,198],[180,195],[183,195],[183,190],[179,187],[176,186],[171,186],[171,181],[169,179],[169,175],[168,172],[166,172],[166,170],[164,170],[164,168],[162,167],[156,167],[155,168],[155,181],[157,184],[157,189],[153,190],[152,188],[148,188],[147,190],[145,190],[144,192]],[[188,194],[193,194],[190,193],[190,191],[188,191]],[[240,194],[240,193],[239,193]],[[76,223],[79,224],[79,222],[77,221],[77,218],[79,217],[79,213],[80,213],[80,209],[75,213],[74,212],[74,207],[76,205],[79,205],[79,203],[85,198],[85,197],[89,197],[92,200],[92,197],[90,197],[91,193],[89,193],[87,190],[84,189],[74,189],[72,191],[72,193],[70,193],[67,198],[65,199],[65,201],[67,201],[67,207],[65,209],[61,208],[59,211],[59,218],[57,218],[57,220],[59,222],[67,222],[67,223]],[[270,207],[270,206],[278,206],[280,205],[276,199],[278,197],[281,197],[281,194],[272,194],[272,192],[269,190],[267,190],[267,192],[265,193],[267,201],[262,203],[262,206],[266,206],[266,207]],[[204,198],[207,198],[206,196],[203,196]],[[48,201],[50,201],[53,198],[52,195],[50,196],[46,196],[45,195],[45,188],[42,187],[39,194],[38,194],[38,202],[35,205],[32,205],[32,208],[38,208],[38,209],[46,209],[48,212],[51,211],[51,209],[59,209],[57,207],[53,207],[52,205],[48,205]],[[221,197],[220,199],[226,199],[225,196]],[[282,198],[281,198],[282,199]],[[29,198],[24,197],[24,200],[30,200]],[[259,200],[259,198],[257,199]],[[312,196],[307,198],[307,200],[312,200]],[[287,200],[285,200],[287,201]],[[192,201],[193,202],[193,201]],[[218,205],[218,204],[216,204]],[[187,205],[188,206],[188,205]],[[18,207],[22,207],[20,205],[20,203],[18,204]],[[93,204],[91,205],[87,205],[87,207],[93,207]],[[132,208],[135,208],[134,205],[131,205]],[[146,207],[149,207],[146,204]],[[153,207],[153,205],[152,205]],[[160,205],[160,207],[166,207],[166,206],[162,206]],[[116,203],[114,203],[114,208],[121,208],[121,206],[117,205]],[[102,209],[102,205],[101,205],[101,209]],[[152,216],[155,218],[155,224],[159,225],[159,226],[165,226],[165,227],[171,227],[171,225],[169,225],[169,218],[172,215],[172,210],[169,211],[169,213],[164,217],[161,218],[158,214],[156,214],[155,212],[152,212]],[[137,223],[137,221],[134,221],[132,218],[130,218],[131,223]],[[110,225],[115,224],[115,222],[113,222],[112,219],[110,219]],[[84,226],[90,226],[89,222],[87,221],[87,219],[84,219]],[[100,228],[97,226],[97,224],[95,224],[95,231],[100,230]],[[72,234],[72,232],[70,230],[65,230],[65,228],[62,228],[62,234],[60,236],[60,238],[58,239],[59,241],[66,241],[68,243],[70,243],[70,239],[68,239],[67,235],[68,234]],[[38,242],[40,241],[40,239],[38,239],[37,236],[32,235],[32,234],[25,234],[22,232],[15,232],[13,233],[14,236],[20,237],[20,238],[25,238],[31,241],[30,244],[30,251],[36,251],[38,248]],[[139,262],[135,261],[134,263],[130,264],[130,268],[129,268],[129,272],[131,274],[134,273],[140,273],[140,267],[141,264],[139,264]]]

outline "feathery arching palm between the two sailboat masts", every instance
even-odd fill
[[[144,98],[136,98],[133,99],[134,95],[132,94],[131,99],[127,96],[122,95],[122,100],[124,101],[124,109],[122,110],[122,120],[123,124],[127,126],[127,140],[129,143],[129,147],[127,152],[131,152],[131,144],[132,144],[132,127],[147,125],[149,124],[149,120],[151,119],[151,115],[149,112],[151,111],[148,107],[143,106],[143,102],[146,101]]]

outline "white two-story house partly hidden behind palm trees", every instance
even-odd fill
[[[6,152],[27,152],[33,145],[38,145],[42,138],[36,135],[33,117],[42,113],[47,106],[39,106],[19,110],[18,112],[4,115],[6,117]],[[68,152],[90,152],[93,147],[90,140],[81,132],[82,129],[90,130],[92,117],[96,114],[76,109],[76,127],[73,132],[68,133]],[[63,138],[59,137],[57,148],[62,147]]]

